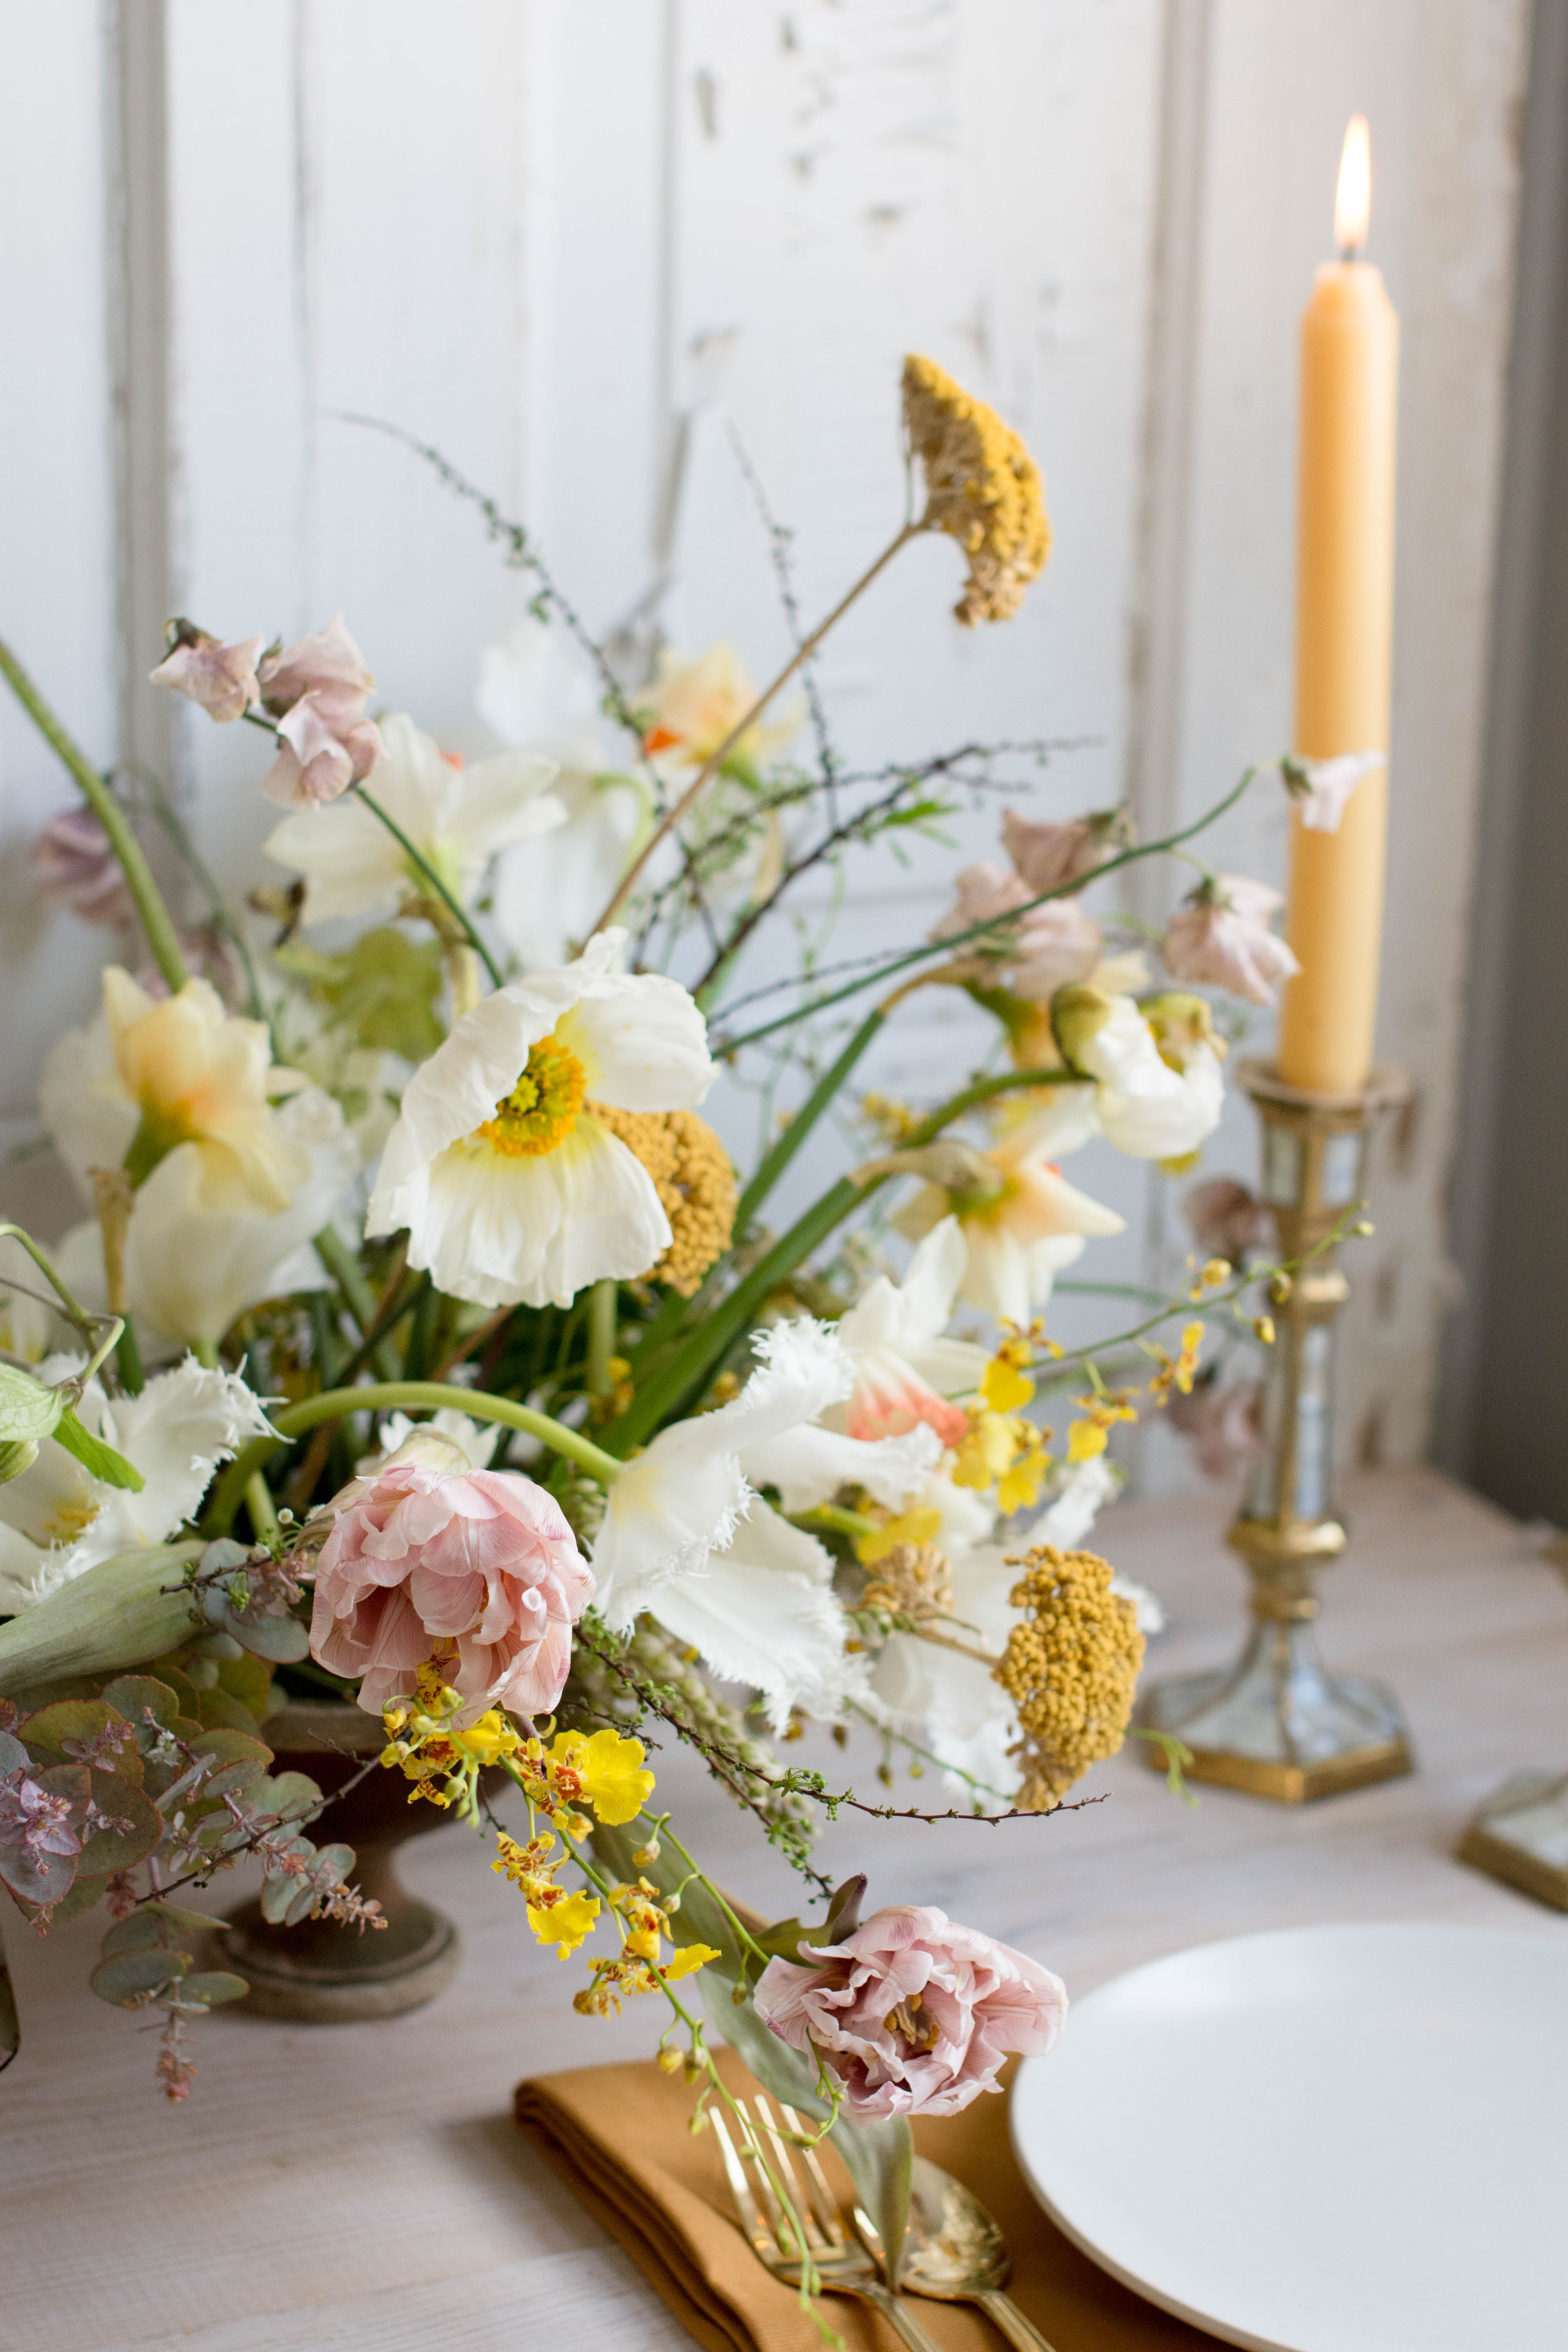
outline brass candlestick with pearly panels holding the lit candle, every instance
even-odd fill
[[[1361,1200],[1371,1115],[1403,1101],[1399,1073],[1363,1094],[1307,1094],[1267,1063],[1237,1073],[1262,1120],[1262,1197],[1284,1261],[1305,1258]],[[1253,1630],[1234,1665],[1152,1684],[1138,1717],[1192,1748],[1194,1780],[1305,1804],[1413,1771],[1394,1693],[1331,1675],[1316,1646],[1316,1578],[1345,1550],[1333,1508],[1333,1341],[1349,1284],[1324,1249],[1274,1310],[1262,1454],[1229,1529],[1253,1581]],[[1161,1755],[1150,1745],[1150,1762]]]

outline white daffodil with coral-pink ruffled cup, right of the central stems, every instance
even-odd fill
[[[943,1338],[952,1322],[969,1251],[957,1216],[943,1216],[910,1258],[903,1282],[877,1275],[839,1317],[839,1343],[856,1367],[856,1385],[830,1414],[851,1437],[896,1437],[936,1430],[957,1446],[969,1416],[957,1402],[973,1395],[985,1371],[985,1348]]]

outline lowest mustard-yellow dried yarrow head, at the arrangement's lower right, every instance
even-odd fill
[[[1112,1592],[1098,1552],[1025,1552],[1009,1599],[1027,1611],[1013,1625],[994,1679],[1023,1724],[1018,1806],[1051,1813],[1074,1780],[1121,1748],[1143,1665],[1138,1609]]]

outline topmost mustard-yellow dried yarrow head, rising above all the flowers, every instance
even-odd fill
[[[1051,553],[1034,459],[994,409],[917,353],[903,362],[903,421],[926,473],[924,524],[969,555],[957,619],[1009,621]]]

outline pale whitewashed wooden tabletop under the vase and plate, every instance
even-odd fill
[[[1072,1992],[1182,1945],[1345,1919],[1453,1919],[1568,1938],[1568,1917],[1460,1867],[1469,1811],[1509,1771],[1568,1766],[1568,1590],[1540,1538],[1429,1472],[1349,1491],[1328,1581],[1331,1663],[1399,1689],[1420,1771],[1300,1811],[1227,1790],[1197,1809],[1135,1757],[1110,1802],[1056,1820],[860,1825],[827,1863],[872,1900],[940,1903]],[[1112,1510],[1098,1543],[1171,1613],[1152,1672],[1218,1663],[1241,1630],[1220,1494]],[[811,1755],[792,1750],[792,1755]],[[823,1740],[823,1762],[844,1759]],[[703,1863],[762,1910],[795,1910],[783,1863],[661,1752],[661,1797]],[[851,1745],[875,1788],[875,1745]],[[905,1783],[900,1783],[903,1788]],[[931,1802],[933,1783],[896,1802]],[[85,1990],[101,1936],[38,1943],[7,1915],[24,2046],[0,2077],[0,2333],[7,2352],[675,2352],[686,2338],[510,2124],[529,2072],[628,2058],[663,2018],[578,2018],[578,1964],[538,1955],[475,1839],[440,1830],[407,1882],[463,1926],[456,1985],[381,2025],[197,2027],[183,2107],[153,2086],[155,2037]],[[230,1893],[233,1886],[233,1893]],[[230,1907],[235,1872],[207,1896]]]

